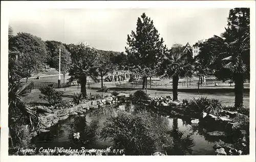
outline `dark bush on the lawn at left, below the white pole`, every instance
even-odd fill
[[[43,94],[39,95],[39,98],[48,101],[50,105],[60,102],[62,100],[62,94],[64,93],[61,91],[56,91],[50,86],[41,87],[39,90],[41,91],[41,94]]]

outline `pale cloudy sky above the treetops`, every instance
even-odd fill
[[[170,9],[26,9],[11,12],[9,24],[26,32],[63,43],[88,42],[97,49],[125,51],[127,35],[136,31],[138,17],[150,17],[167,47],[195,44],[220,35],[229,8]]]

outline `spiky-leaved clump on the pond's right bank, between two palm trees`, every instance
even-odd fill
[[[187,107],[198,113],[208,113],[212,115],[219,115],[222,110],[222,103],[218,99],[208,99],[207,97],[199,97],[188,102]]]

